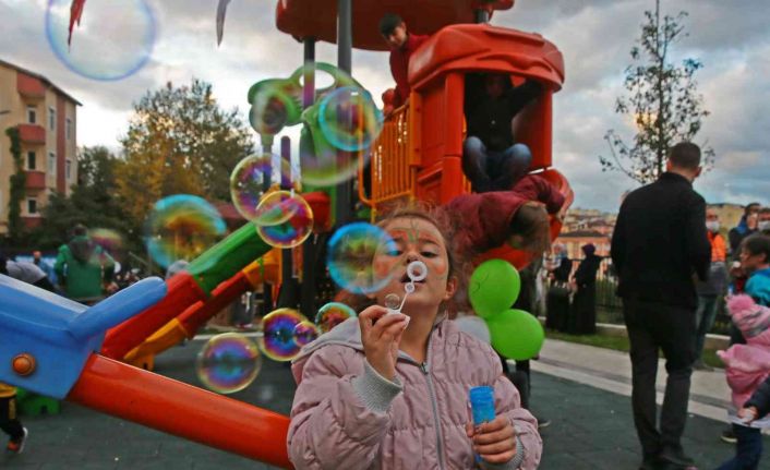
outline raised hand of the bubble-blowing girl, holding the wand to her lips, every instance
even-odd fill
[[[407,327],[407,315],[387,314],[387,309],[372,305],[358,316],[361,342],[366,361],[388,381],[396,377],[396,359],[401,335]]]

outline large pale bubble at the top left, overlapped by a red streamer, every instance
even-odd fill
[[[71,71],[92,80],[124,79],[153,52],[156,23],[146,0],[88,2],[69,39],[72,0],[49,0],[46,35]]]

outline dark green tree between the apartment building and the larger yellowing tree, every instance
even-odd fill
[[[76,224],[113,229],[136,244],[135,232],[116,194],[116,172],[122,161],[107,148],[83,147],[77,158],[77,184],[70,197],[53,193],[43,209],[45,224],[32,234],[36,246],[53,249],[64,242]]]

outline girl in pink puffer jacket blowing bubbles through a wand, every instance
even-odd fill
[[[395,241],[374,268],[393,273],[369,306],[311,344],[294,361],[289,456],[298,469],[533,469],[542,441],[492,348],[448,320],[464,276],[434,215],[407,209],[380,224]],[[444,233],[444,234],[443,234]],[[445,236],[446,234],[446,236]],[[401,313],[409,263],[428,267]],[[407,327],[408,326],[408,327]],[[494,387],[494,421],[473,429],[471,387]]]

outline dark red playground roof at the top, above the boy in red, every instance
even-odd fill
[[[456,23],[473,23],[477,9],[508,10],[514,0],[354,0],[353,47],[387,50],[378,23],[385,13],[396,13],[417,34],[433,34]],[[337,0],[279,0],[278,29],[302,39],[337,41]]]

